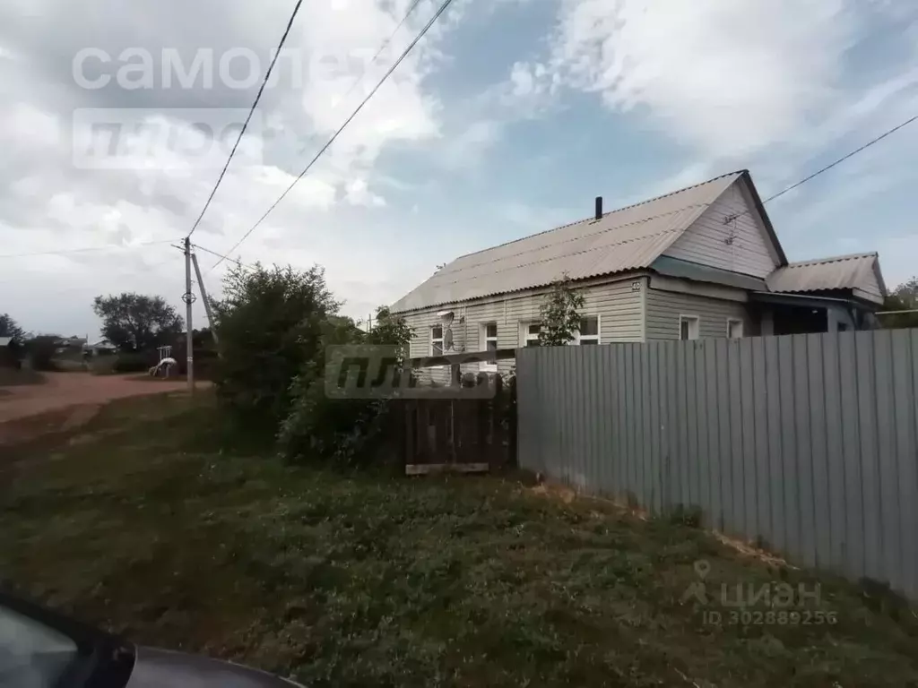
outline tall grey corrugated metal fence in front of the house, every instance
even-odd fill
[[[918,330],[518,351],[521,467],[918,599]]]

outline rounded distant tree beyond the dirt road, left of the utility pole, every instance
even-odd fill
[[[121,351],[155,349],[183,330],[182,318],[162,296],[96,296],[93,311],[102,318],[103,336]]]

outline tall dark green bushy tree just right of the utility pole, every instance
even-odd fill
[[[247,427],[274,437],[290,407],[290,385],[309,361],[318,360],[323,327],[341,303],[319,266],[306,272],[231,268],[223,294],[214,303],[218,398]]]

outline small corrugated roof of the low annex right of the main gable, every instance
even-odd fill
[[[768,291],[778,293],[850,289],[856,296],[877,303],[882,303],[888,295],[876,253],[792,262],[768,275],[766,282]]]

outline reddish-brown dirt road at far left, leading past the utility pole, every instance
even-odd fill
[[[71,429],[107,402],[185,390],[185,381],[153,382],[137,375],[50,372],[44,384],[0,388],[0,445]]]

